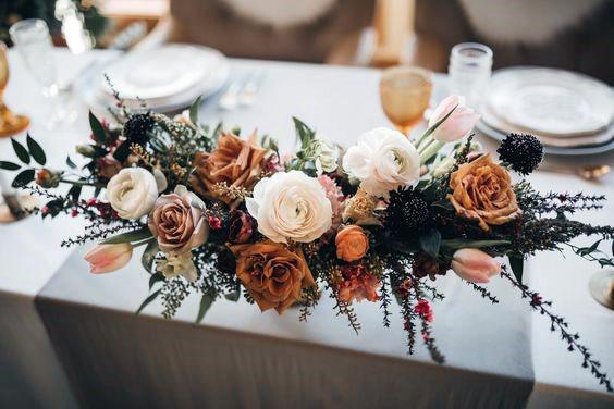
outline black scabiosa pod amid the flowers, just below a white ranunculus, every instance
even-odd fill
[[[410,241],[432,224],[429,205],[420,191],[414,188],[398,189],[390,194],[385,227],[398,241]]]

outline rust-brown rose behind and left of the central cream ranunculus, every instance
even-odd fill
[[[212,152],[196,153],[189,183],[197,194],[230,205],[235,199],[216,189],[216,184],[250,189],[262,173],[265,154],[266,150],[256,146],[256,132],[248,140],[224,133]]]

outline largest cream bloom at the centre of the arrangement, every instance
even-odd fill
[[[254,186],[245,199],[258,231],[272,241],[314,241],[332,224],[332,207],[317,178],[299,171],[279,172]]]

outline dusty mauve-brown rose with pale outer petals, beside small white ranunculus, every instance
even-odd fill
[[[182,185],[156,200],[148,226],[165,252],[189,251],[204,245],[209,237],[205,203]]]

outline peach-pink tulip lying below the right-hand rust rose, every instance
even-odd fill
[[[452,270],[468,282],[488,283],[490,277],[501,273],[501,264],[482,250],[464,248],[452,257]]]

